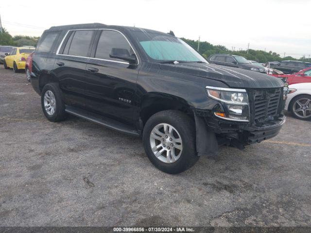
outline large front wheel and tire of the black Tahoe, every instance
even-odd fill
[[[173,129],[172,133],[164,133],[164,127],[161,128],[162,124],[168,124],[168,129]],[[157,133],[162,133],[162,136],[154,134],[155,128],[158,129]],[[152,135],[155,135],[158,139],[155,139]],[[194,121],[182,112],[166,110],[151,116],[144,126],[142,138],[144,149],[151,163],[166,173],[177,174],[183,172],[193,166],[199,159],[196,152]],[[172,138],[173,144],[170,141]],[[179,139],[181,139],[181,142],[178,142]],[[162,145],[165,145],[165,147]],[[152,147],[158,147],[156,149],[158,151],[154,150],[154,152]],[[177,147],[182,150],[177,149]],[[169,154],[168,149],[171,150]],[[161,155],[159,156],[159,154]]]

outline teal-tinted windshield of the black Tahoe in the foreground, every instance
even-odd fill
[[[145,32],[135,32],[135,35],[143,50],[155,62],[182,61],[207,63],[204,57],[179,38]]]

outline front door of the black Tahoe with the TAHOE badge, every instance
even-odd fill
[[[86,66],[86,107],[94,113],[132,124],[138,64],[111,58],[113,48],[128,50],[136,56],[121,32],[99,30]]]

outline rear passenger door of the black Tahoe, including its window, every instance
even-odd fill
[[[85,107],[86,64],[97,30],[72,30],[56,54],[54,74],[59,80],[65,104]]]

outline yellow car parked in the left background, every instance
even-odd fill
[[[3,61],[5,69],[13,68],[17,73],[20,69],[25,69],[27,57],[35,51],[33,47],[17,47],[13,48],[10,53],[6,54]]]

